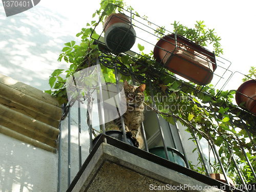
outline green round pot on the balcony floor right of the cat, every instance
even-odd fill
[[[159,156],[159,157],[167,159],[163,146],[155,146],[155,147],[148,149],[148,151],[152,154]],[[186,163],[184,160],[185,158],[178,150],[176,150],[175,148],[167,147],[167,151],[168,151],[170,161],[186,167]]]

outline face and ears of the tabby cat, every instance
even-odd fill
[[[126,103],[128,105],[140,105],[144,102],[144,90],[146,85],[131,86],[126,80],[123,81]]]

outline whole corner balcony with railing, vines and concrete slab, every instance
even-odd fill
[[[153,50],[157,40],[161,38],[154,33],[155,28],[160,27],[156,25],[153,27],[154,24],[132,12],[125,13],[132,20],[131,27],[136,30],[136,39],[139,44]],[[136,48],[124,53],[110,50],[104,41],[102,29],[98,30],[97,25],[94,30],[100,34],[91,36],[94,39],[93,45],[99,47],[99,55],[90,63],[83,60],[84,69],[87,71],[80,70],[70,79],[70,87],[68,82],[69,103],[64,106],[60,134],[59,191],[66,190],[66,185],[67,191],[125,191],[127,189],[136,191],[138,186],[141,191],[159,190],[157,187],[162,187],[161,189],[166,191],[170,189],[169,187],[181,191],[250,191],[249,185],[247,185],[248,189],[245,187],[246,175],[242,167],[246,165],[248,172],[251,173],[250,177],[255,180],[255,170],[252,166],[255,159],[250,158],[255,155],[255,116],[251,111],[241,108],[231,100],[227,100],[222,105],[216,102],[222,99],[223,95],[231,94],[224,91],[234,74],[229,69],[231,62],[220,56],[211,56],[215,58],[217,68],[207,72],[212,75],[212,86],[209,86],[208,83],[205,84],[205,80],[208,79],[198,81],[187,78],[186,74],[170,71],[167,65],[161,64],[162,60],[156,61],[149,55],[136,51]],[[177,43],[177,34],[173,34],[172,38],[173,45],[184,51],[184,48]],[[145,39],[155,40],[149,42]],[[197,51],[200,52],[200,50]],[[172,60],[174,52],[168,53],[167,60]],[[128,57],[131,59],[129,65],[124,63]],[[212,63],[213,60],[210,59],[209,62]],[[202,70],[204,71],[205,68]],[[103,80],[102,77],[104,77]],[[106,106],[113,105],[116,108],[116,103],[121,99],[120,80],[124,77],[134,85],[146,84],[145,118],[141,124],[145,147],[142,149],[129,144],[124,126],[121,129],[123,141],[106,134],[104,124],[108,122],[107,115],[112,114],[111,109]],[[97,83],[92,83],[88,88],[83,86],[84,79]],[[160,84],[161,79],[168,79],[171,89],[165,89],[164,84]],[[111,84],[115,90],[109,91],[108,94],[102,93],[110,90],[108,84]],[[219,128],[218,126],[207,127],[205,123],[194,126],[185,122],[176,113],[167,115],[164,110],[157,108],[159,102],[164,101],[163,99],[174,99],[174,95],[179,91],[189,95],[187,98],[177,97],[182,99],[180,102],[186,100],[202,109],[213,117],[211,121],[220,125]],[[111,92],[114,92],[114,95],[111,95]],[[106,95],[108,97],[105,97]],[[115,96],[115,104],[110,104],[108,99]],[[205,100],[201,102],[200,98],[208,99],[205,99],[207,102]],[[173,106],[177,107],[177,105]],[[188,107],[188,105],[184,106]],[[229,111],[225,111],[226,109]],[[124,125],[122,118],[121,122]],[[226,129],[226,135],[219,130],[221,128]],[[186,129],[190,134],[186,134]],[[231,137],[231,133],[237,130],[243,133],[243,136],[234,134]],[[102,133],[96,144],[93,143],[97,135],[94,135],[95,131]],[[189,143],[188,138],[193,142]],[[77,142],[75,146],[74,140]],[[155,146],[161,146],[165,156],[159,157],[151,153],[151,149]],[[171,153],[168,152],[169,148],[173,150]],[[241,152],[239,156],[232,155],[238,154],[238,148]],[[71,151],[76,151],[77,157],[73,157],[74,153]],[[179,153],[175,154],[179,154],[183,164],[172,160],[172,155],[176,151]],[[196,153],[199,155],[195,155]],[[229,156],[225,157],[226,154]],[[198,157],[198,161],[195,157]],[[201,167],[196,163],[200,163]],[[229,165],[232,165],[232,169],[227,168]],[[215,172],[222,173],[226,183],[210,178],[210,174]],[[234,183],[230,183],[227,177],[227,173],[230,172],[233,172],[233,178],[236,179]],[[63,174],[68,175],[67,183],[63,181]]]

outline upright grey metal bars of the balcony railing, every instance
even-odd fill
[[[97,63],[95,65],[95,69],[97,69],[97,71],[99,71],[99,70],[101,70],[100,69],[100,65],[99,65],[100,62],[99,62],[99,60],[97,60],[96,62]],[[117,66],[115,66],[114,63],[112,63],[112,64],[113,64],[113,66],[111,68],[114,70],[115,80],[116,80],[116,83],[118,83],[119,82],[119,79],[118,79],[118,71],[119,70],[118,70]],[[100,78],[101,78],[100,74],[97,73],[97,75],[98,75],[98,79],[100,80]],[[137,79],[134,78],[134,74],[133,74],[132,68],[130,68],[129,75],[131,75],[132,82],[133,82],[133,84],[135,84]],[[97,104],[99,111],[97,111],[96,113],[94,112],[94,116],[95,116],[95,114],[98,114],[98,116],[101,116],[101,117],[99,117],[99,119],[101,120],[101,123],[102,123],[101,125],[102,126],[99,126],[99,129],[101,129],[102,134],[105,134],[106,130],[105,130],[105,126],[104,126],[105,125],[105,122],[104,122],[105,118],[104,118],[104,110],[103,110],[104,109],[104,106],[103,106],[104,105],[104,101],[103,101],[103,95],[102,95],[102,86],[103,86],[103,84],[101,84],[101,83],[98,84],[97,90],[98,90],[99,94],[98,94],[97,97],[99,97],[99,98],[94,98],[94,99],[99,99],[99,102]],[[150,95],[153,98],[154,97],[154,91],[153,91],[152,81],[147,81],[147,86],[149,86]],[[120,90],[120,89],[118,88],[117,90]],[[119,94],[119,93],[117,93],[117,94]],[[88,95],[90,95],[90,94],[88,94]],[[117,99],[120,99],[120,97],[117,97]],[[68,122],[68,151],[66,152],[66,153],[68,153],[67,154],[67,157],[68,157],[68,160],[67,160],[67,170],[68,170],[68,172],[67,172],[68,182],[67,183],[68,183],[68,186],[70,185],[71,180],[72,180],[71,179],[72,178],[72,176],[71,176],[71,173],[72,173],[71,169],[72,169],[72,167],[74,167],[72,165],[72,163],[71,163],[71,157],[74,156],[74,154],[72,154],[72,150],[71,150],[71,144],[72,144],[72,142],[71,142],[71,137],[72,137],[71,136],[72,135],[72,133],[71,133],[71,126],[72,126],[72,123],[71,122],[72,122],[72,120],[77,119],[77,124],[76,124],[77,127],[75,128],[75,130],[77,130],[77,134],[78,134],[78,146],[77,146],[78,147],[78,149],[77,149],[78,156],[77,157],[79,159],[79,163],[78,163],[78,169],[76,168],[77,170],[79,170],[81,168],[81,165],[82,165],[82,162],[83,162],[83,160],[82,160],[82,147],[84,147],[84,146],[82,146],[82,144],[81,144],[81,138],[82,138],[81,130],[89,129],[89,133],[88,133],[89,134],[89,138],[88,138],[88,140],[89,140],[89,143],[90,143],[90,151],[92,151],[92,148],[93,148],[93,137],[94,137],[93,136],[93,129],[95,129],[95,128],[93,128],[93,126],[92,126],[93,119],[92,119],[92,109],[90,108],[90,106],[91,106],[90,102],[91,101],[92,101],[92,99],[87,99],[87,102],[89,102],[89,104],[88,103],[86,104],[86,101],[83,101],[83,103],[81,103],[79,101],[78,105],[77,105],[77,116],[74,116],[74,117],[73,117],[73,114],[71,113],[71,109],[74,108],[74,107],[70,106],[70,105],[65,106],[65,111],[66,111],[65,112],[65,114],[66,114],[65,116],[67,116],[67,119],[65,121]],[[119,102],[120,102],[120,100],[119,100]],[[81,104],[87,106],[87,109],[86,109],[87,115],[86,116],[81,116]],[[155,105],[156,104],[155,104],[155,102],[153,100],[151,108],[156,108]],[[212,111],[212,112],[214,112],[214,111]],[[187,158],[187,155],[186,155],[186,151],[188,150],[188,149],[186,149],[187,145],[184,142],[182,142],[182,138],[181,138],[181,135],[180,135],[180,131],[179,131],[179,127],[177,125],[176,119],[175,119],[175,124],[174,125],[167,123],[167,126],[164,125],[164,129],[163,129],[163,123],[161,122],[160,115],[157,112],[155,112],[155,111],[152,111],[151,113],[155,113],[155,120],[154,121],[156,121],[156,123],[158,124],[158,127],[159,127],[159,131],[158,132],[160,133],[161,143],[163,144],[163,148],[164,148],[164,153],[166,155],[166,159],[170,160],[169,153],[168,153],[168,147],[179,148],[178,150],[184,155],[184,161],[185,161],[186,166],[188,168],[190,168],[189,167],[189,158]],[[214,112],[214,113],[216,113],[216,112]],[[146,119],[147,119],[147,117],[145,116],[145,120]],[[81,125],[82,124],[81,123],[82,120],[83,121],[87,121],[86,123],[83,122],[83,124],[84,124],[83,126],[84,127],[82,127],[82,125]],[[217,117],[216,117],[215,120],[216,120],[216,123],[219,123]],[[64,120],[62,120],[62,121],[64,121]],[[128,143],[127,139],[126,139],[123,118],[121,118],[121,121],[122,121],[121,131],[123,133],[124,142]],[[230,125],[232,126],[232,122],[230,122]],[[171,129],[171,126],[173,127],[173,129]],[[144,124],[142,122],[142,124],[141,124],[141,131],[142,131],[142,135],[143,135],[143,139],[144,139],[144,143],[145,143],[145,148],[143,150],[146,151],[146,152],[149,152],[149,148],[150,148],[148,146],[148,143],[147,143],[149,138],[146,138],[147,130],[148,129],[151,129],[151,127],[144,126]],[[165,130],[165,132],[164,132],[164,130]],[[167,134],[167,135],[165,134],[166,130],[169,131],[169,134]],[[61,131],[61,133],[63,131],[62,130],[62,122],[61,122],[60,131]],[[62,181],[61,180],[61,172],[60,171],[62,169],[61,166],[63,166],[61,164],[61,158],[62,158],[61,156],[62,156],[62,153],[63,153],[62,150],[61,150],[61,145],[62,145],[62,142],[61,142],[62,134],[61,133],[60,133],[60,140],[59,140],[59,144],[60,144],[60,147],[59,147],[59,179],[58,179],[58,181],[59,181],[59,187],[58,188],[59,189],[60,189],[60,184],[61,184],[61,181]],[[249,134],[249,136],[251,136],[249,132],[247,132],[247,134]],[[193,131],[192,136],[193,136],[193,138],[194,138],[194,140],[196,142],[197,150],[198,150],[198,152],[200,154],[201,162],[202,162],[202,164],[204,166],[205,173],[206,173],[207,176],[210,176],[210,173],[212,171],[209,169],[209,162],[205,158],[204,152],[203,152],[201,144],[200,144],[200,140],[198,139],[198,136],[197,136],[197,134],[194,131]],[[210,137],[210,135],[208,135],[208,136]],[[175,139],[176,139],[176,141],[174,141]],[[169,144],[166,143],[167,140],[172,140],[174,145],[173,146],[169,146]],[[227,170],[224,169],[224,166],[222,164],[221,158],[219,157],[217,146],[211,141],[211,139],[209,140],[208,143],[209,143],[209,146],[210,146],[210,150],[213,151],[214,158],[216,158],[218,160],[218,165],[220,166],[220,168],[222,170],[222,173],[224,174],[225,179],[226,179],[226,181],[228,183],[228,179],[227,179],[227,175],[226,175],[226,171]],[[251,170],[251,172],[253,174],[253,177],[256,178],[255,177],[255,172],[253,170],[253,167],[251,166],[250,160],[248,159],[248,157],[246,155],[246,151],[245,151],[244,147],[241,145],[241,143],[237,143],[237,144],[240,145],[241,151],[243,152],[243,154],[244,154],[244,156],[246,158],[246,161],[247,161],[246,163],[248,164],[248,166],[249,166],[249,168],[250,168],[250,170]],[[180,147],[178,147],[178,146],[180,146]],[[230,146],[228,142],[227,142],[227,146],[228,146],[228,151],[231,154],[232,153],[232,146]],[[88,149],[88,146],[85,146],[85,148]],[[236,161],[235,157],[232,156],[231,160],[233,161],[233,163],[236,166],[236,169],[237,169],[236,171],[237,171],[237,173],[238,173],[238,175],[239,175],[239,177],[241,179],[241,183],[243,184],[243,186],[246,186],[246,183],[244,181],[244,176],[243,176],[243,174],[242,174],[242,172],[241,172],[241,170],[240,170],[240,168],[239,168],[239,166],[237,164],[237,161]],[[244,189],[244,190],[248,191],[247,189]]]

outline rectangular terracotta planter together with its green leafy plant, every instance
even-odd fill
[[[205,32],[203,23],[197,22],[193,30],[174,22],[175,34],[163,36],[154,48],[156,61],[163,63],[169,71],[199,85],[210,83],[217,68],[215,53],[202,46],[207,46],[206,42],[209,41],[209,44],[214,42],[220,47],[220,38],[213,34],[214,30]],[[222,53],[220,48],[216,51]]]

